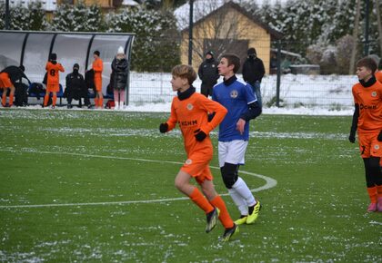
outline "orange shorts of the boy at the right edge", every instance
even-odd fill
[[[382,157],[382,141],[377,140],[379,132],[359,133],[359,151],[362,158]]]

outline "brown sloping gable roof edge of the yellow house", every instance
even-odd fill
[[[203,23],[204,21],[206,21],[206,19],[208,19],[208,18],[218,14],[224,8],[233,8],[237,12],[245,15],[246,18],[248,18],[249,20],[253,21],[254,23],[256,23],[259,26],[261,26],[262,28],[264,28],[266,30],[266,32],[271,34],[271,36],[274,39],[281,39],[283,37],[283,34],[281,32],[279,32],[276,29],[274,29],[274,28],[270,27],[269,25],[265,24],[258,17],[256,17],[255,15],[252,15],[251,13],[246,11],[246,9],[244,9],[243,7],[241,7],[240,5],[237,5],[236,3],[232,2],[232,1],[227,2],[224,5],[221,5],[220,7],[216,8],[215,10],[212,10],[210,13],[208,13],[208,14],[206,14],[204,16],[199,17],[199,19],[197,19],[197,17],[195,17],[195,15],[194,15],[194,19],[196,20],[196,21],[194,21],[194,25]],[[208,8],[206,8],[206,9],[208,9]],[[181,28],[182,32],[185,32],[186,30],[188,30],[188,26],[186,26],[185,28]]]

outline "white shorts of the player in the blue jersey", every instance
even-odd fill
[[[225,162],[232,164],[244,164],[246,146],[248,141],[219,141],[219,166],[223,167]]]

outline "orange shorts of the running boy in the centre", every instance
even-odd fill
[[[191,154],[180,170],[194,177],[199,184],[203,183],[204,180],[213,180],[214,177],[209,169],[209,161],[211,161],[211,159],[212,154],[202,154],[199,151]]]

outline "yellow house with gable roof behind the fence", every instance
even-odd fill
[[[233,2],[221,2],[221,5],[216,5],[218,1],[200,3],[203,5],[194,7],[193,66],[197,68],[202,63],[208,50],[213,51],[216,58],[226,53],[237,54],[243,63],[248,47],[255,47],[257,56],[266,66],[266,73],[269,73],[271,41],[280,39],[282,34]],[[175,12],[182,35],[182,63],[188,63],[189,13],[186,7],[183,5]]]

